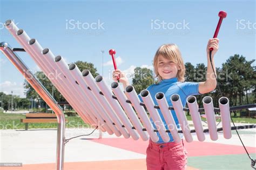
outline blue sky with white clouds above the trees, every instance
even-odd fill
[[[113,70],[109,49],[116,50],[118,69],[128,74],[136,66],[152,69],[154,53],[165,43],[176,43],[184,62],[206,65],[206,44],[213,36],[220,10],[227,12],[227,18],[219,32],[215,65],[220,67],[234,54],[255,59],[255,1],[0,0],[0,3],[1,42],[21,47],[3,28],[7,19],[13,19],[20,29],[56,56],[62,55],[68,63],[91,62],[100,74],[100,51],[104,50],[103,76],[108,83],[112,81]],[[22,52],[18,55],[31,70],[38,71],[31,57]],[[0,70],[0,91],[13,90],[24,97],[24,78],[2,53]]]

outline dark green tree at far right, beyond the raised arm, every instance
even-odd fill
[[[231,106],[250,103],[248,91],[255,89],[255,66],[252,63],[255,60],[247,61],[244,56],[234,55],[226,60],[222,65],[222,71],[225,73],[225,83],[229,86],[221,86],[223,96],[230,99]],[[236,116],[236,112],[234,112]]]

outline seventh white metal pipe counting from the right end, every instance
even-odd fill
[[[143,106],[140,105],[140,100],[137,96],[136,91],[134,90],[133,86],[127,86],[125,88],[125,94],[127,98],[131,101],[132,106],[135,108],[136,112],[139,115],[140,120],[143,123],[143,126],[146,128],[147,133],[149,133],[150,138],[153,142],[158,142],[159,138],[156,132],[154,132],[154,127],[149,119],[147,117],[147,113]]]

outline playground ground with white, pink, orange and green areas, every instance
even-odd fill
[[[240,125],[240,124],[239,124]],[[67,128],[66,139],[92,132],[91,128]],[[0,162],[20,162],[22,167],[0,169],[55,169],[56,129],[0,130]],[[247,151],[256,159],[256,130],[239,130]],[[186,142],[188,151],[187,169],[252,169],[251,161],[242,147],[238,135],[212,141],[208,133],[200,142],[193,134],[193,142]],[[65,145],[64,169],[146,169],[146,148],[149,141],[125,139],[103,133],[98,139],[96,130],[89,136],[70,140]]]

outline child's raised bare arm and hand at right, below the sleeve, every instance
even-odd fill
[[[212,50],[212,65],[210,62],[210,48]],[[202,81],[199,83],[199,93],[204,94],[213,91],[217,86],[217,80],[215,79],[214,73],[216,74],[215,65],[214,65],[214,55],[219,49],[219,39],[218,38],[211,38],[208,41],[206,52],[207,52],[207,74],[206,74],[206,81]],[[213,69],[212,69],[213,66]]]

